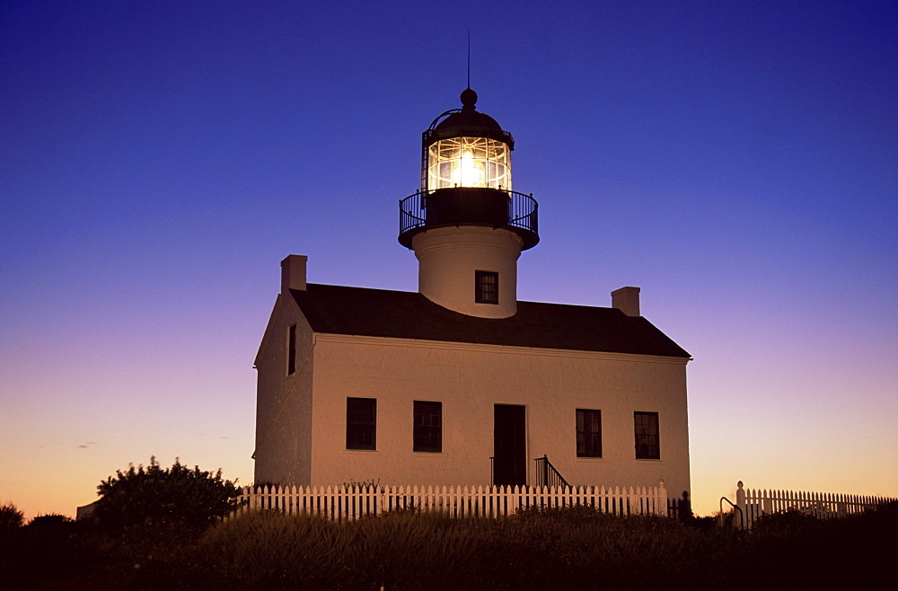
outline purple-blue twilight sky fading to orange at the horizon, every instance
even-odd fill
[[[898,4],[373,4],[0,4],[0,503],[151,454],[251,482],[278,262],[417,288],[397,201],[469,30],[540,202],[518,295],[642,287],[697,511],[898,494]]]

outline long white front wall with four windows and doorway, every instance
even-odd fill
[[[690,490],[685,359],[315,334],[311,483],[489,484],[493,405],[527,413],[528,482],[547,454],[577,485]],[[347,397],[377,399],[377,449],[346,449]],[[413,401],[443,402],[443,453],[412,451]],[[577,458],[576,409],[602,411],[602,458]],[[634,411],[660,460],[636,460]],[[258,474],[259,472],[257,472]]]

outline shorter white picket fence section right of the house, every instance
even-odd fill
[[[890,497],[865,497],[825,492],[794,490],[745,490],[742,481],[736,485],[735,525],[751,529],[762,515],[794,509],[819,519],[833,519],[868,511],[877,505],[896,500]]]

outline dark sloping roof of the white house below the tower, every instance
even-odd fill
[[[690,357],[645,318],[616,308],[518,302],[511,318],[478,318],[434,304],[424,295],[310,283],[291,290],[315,332]]]

